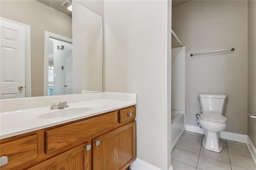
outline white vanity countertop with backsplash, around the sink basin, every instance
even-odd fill
[[[67,103],[70,107],[75,107],[74,105],[82,105],[94,109],[86,113],[68,117],[51,119],[38,118],[40,115],[37,115],[37,113],[40,112],[36,111],[42,109],[51,111],[51,101],[62,101],[63,99],[68,100]],[[78,95],[7,99],[1,100],[0,103],[0,139],[2,139],[135,105],[136,94],[100,92]]]

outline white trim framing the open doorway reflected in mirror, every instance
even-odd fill
[[[48,96],[48,53],[49,53],[49,38],[54,38],[63,42],[72,43],[71,38],[60,36],[48,31],[44,32],[44,96]],[[46,67],[47,66],[47,67]]]

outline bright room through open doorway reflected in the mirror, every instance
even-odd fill
[[[72,94],[72,42],[48,38],[48,95]],[[68,83],[67,83],[68,82]],[[72,81],[71,81],[72,82]],[[71,87],[70,87],[71,86]]]

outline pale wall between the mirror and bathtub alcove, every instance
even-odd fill
[[[104,91],[137,93],[137,158],[165,170],[171,163],[170,12],[167,0],[104,2]]]

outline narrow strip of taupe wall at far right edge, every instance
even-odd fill
[[[248,112],[256,113],[256,1],[248,1]],[[256,146],[256,119],[248,118],[248,136]]]

